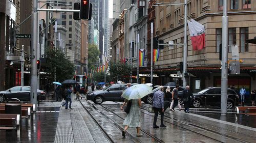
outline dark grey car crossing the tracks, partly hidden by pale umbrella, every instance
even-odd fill
[[[124,98],[122,98],[121,95],[125,87],[126,83],[111,84],[103,90],[89,93],[87,99],[96,104],[101,104],[103,101],[124,101]]]

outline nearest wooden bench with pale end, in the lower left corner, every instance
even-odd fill
[[[20,133],[20,115],[0,113],[0,130],[16,130]]]

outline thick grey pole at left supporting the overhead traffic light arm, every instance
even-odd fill
[[[38,26],[38,12],[37,12],[37,0],[33,1],[33,10],[32,10],[32,41],[31,41],[31,72],[30,72],[30,102],[35,104],[35,109],[37,108],[36,101],[37,101],[37,26]]]

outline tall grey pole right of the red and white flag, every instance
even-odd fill
[[[221,64],[221,115],[227,113],[227,60],[228,60],[228,16],[227,0],[223,1],[222,16],[222,64]]]

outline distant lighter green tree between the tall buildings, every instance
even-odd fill
[[[88,48],[88,68],[96,70],[96,62],[99,59],[99,49],[95,44],[89,44]]]

